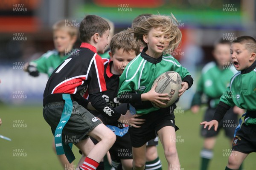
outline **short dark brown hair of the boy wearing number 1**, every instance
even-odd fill
[[[110,30],[108,22],[96,15],[87,15],[80,23],[79,32],[82,42],[90,42],[91,37],[98,33],[102,37],[105,31]]]

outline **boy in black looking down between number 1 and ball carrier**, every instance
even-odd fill
[[[119,89],[119,77],[123,73],[126,65],[139,53],[140,43],[134,40],[133,34],[129,34],[129,32],[125,30],[115,34],[111,40],[109,52],[111,59],[102,59],[105,65],[104,78],[107,87],[107,91],[102,92],[102,97],[111,107],[115,108],[120,113],[126,113],[127,105],[116,100]],[[116,168],[116,170],[131,170],[131,139],[129,133],[127,133],[128,126],[125,125],[126,122],[118,121],[108,123],[105,116],[99,115],[99,113],[95,111],[91,111],[91,113],[101,119],[102,122],[108,124],[107,127],[116,134],[116,142],[109,150],[112,166]],[[134,115],[134,118],[137,116],[138,115]]]

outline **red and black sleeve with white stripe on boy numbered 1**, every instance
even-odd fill
[[[96,54],[93,58],[93,62],[88,75],[88,92],[94,94],[102,91],[106,91],[106,82],[104,79],[104,65],[102,58]]]

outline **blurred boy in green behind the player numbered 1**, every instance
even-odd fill
[[[47,51],[40,58],[29,62],[25,71],[29,75],[38,77],[39,73],[48,74],[51,76],[52,71],[57,68],[61,62],[75,52],[73,46],[77,40],[78,29],[74,26],[67,26],[65,20],[60,20],[52,26],[54,50]]]

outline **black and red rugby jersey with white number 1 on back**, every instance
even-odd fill
[[[44,97],[49,94],[88,94],[106,91],[104,65],[93,45],[82,42],[78,51],[70,55],[53,71],[47,82]]]

